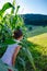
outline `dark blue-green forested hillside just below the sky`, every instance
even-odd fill
[[[47,15],[43,14],[23,14],[24,23],[26,25],[47,25]]]

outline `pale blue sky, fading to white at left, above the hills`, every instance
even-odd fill
[[[0,0],[0,9],[8,1],[12,2],[13,0]],[[47,15],[47,0],[16,0],[16,4],[21,7],[20,14],[34,13]]]

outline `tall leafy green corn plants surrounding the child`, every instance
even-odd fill
[[[24,33],[24,39],[20,43],[22,49],[20,50],[20,55],[17,56],[15,68],[17,68],[19,71],[26,71],[26,58],[27,58],[28,61],[31,62],[31,66],[33,66],[34,71],[36,71],[34,59],[32,57],[31,51],[28,50],[27,44],[25,43],[26,37],[25,37],[24,22],[21,15],[17,14],[20,5],[17,5],[16,9],[14,5],[15,5],[15,0],[13,0],[12,4],[10,2],[7,2],[0,10],[0,47],[8,47],[9,44],[14,44],[15,42],[13,40],[12,37],[13,32],[16,28],[22,28]],[[11,8],[11,13],[4,14],[5,10],[10,8]]]

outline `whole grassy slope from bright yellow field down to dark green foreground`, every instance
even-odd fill
[[[40,71],[47,71],[47,33],[28,37],[27,40],[32,44],[30,50],[36,67]]]

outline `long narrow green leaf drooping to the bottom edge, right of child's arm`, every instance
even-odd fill
[[[32,63],[34,70],[36,71],[36,67],[35,67],[34,59],[33,59],[31,51],[28,50],[28,48],[23,48],[23,50],[26,57],[28,58],[30,62]]]

